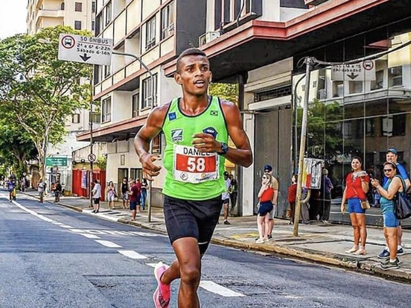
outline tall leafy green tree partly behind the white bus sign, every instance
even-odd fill
[[[92,67],[57,59],[60,33],[90,35],[57,26],[0,41],[0,108],[33,141],[43,178],[49,142],[62,141],[66,117],[89,107],[91,95],[88,83],[81,81],[91,78]]]

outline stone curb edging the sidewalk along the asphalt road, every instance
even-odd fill
[[[56,203],[56,204],[70,208],[77,212],[83,212],[83,209],[79,207],[62,204],[62,203]],[[137,221],[128,221],[124,219],[118,219],[117,222],[166,234],[166,232],[161,227],[152,225],[150,223],[141,223]],[[365,273],[369,275],[375,275],[375,276],[379,276],[383,278],[411,283],[411,273],[408,273],[401,269],[385,271],[378,266],[379,264],[378,262],[374,262],[374,261],[367,261],[367,260],[359,261],[356,259],[349,259],[349,258],[342,259],[342,258],[335,257],[333,255],[331,255],[333,257],[326,256],[326,255],[319,255],[318,253],[314,253],[311,251],[297,250],[297,249],[293,249],[293,248],[282,246],[282,245],[242,243],[242,242],[238,242],[238,241],[234,241],[230,239],[221,239],[221,238],[215,238],[215,237],[211,239],[211,243],[222,245],[222,246],[244,249],[244,250],[269,252],[269,253],[274,252],[282,256],[292,257],[292,258],[301,259],[301,260],[314,261],[316,263],[320,263],[324,265],[337,266],[337,267],[341,267],[347,270],[354,270],[360,273]]]

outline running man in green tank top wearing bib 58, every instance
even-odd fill
[[[155,165],[159,157],[148,153],[148,144],[161,131],[166,140],[163,210],[177,260],[170,267],[160,262],[154,270],[156,308],[169,307],[170,284],[178,278],[178,307],[199,307],[201,257],[218,222],[221,194],[226,191],[224,161],[227,158],[244,167],[253,161],[238,107],[208,96],[211,78],[210,62],[203,51],[183,51],[174,75],[182,87],[182,98],[154,108],[135,138],[147,180],[153,180],[161,169]],[[235,148],[228,147],[229,136]]]

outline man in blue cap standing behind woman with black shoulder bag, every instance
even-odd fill
[[[396,148],[389,148],[385,154],[385,158],[389,162],[394,162],[394,164],[397,167],[397,175],[401,176],[402,179],[405,182],[406,190],[411,187],[411,182],[408,177],[408,173],[405,170],[405,167],[401,165],[397,159],[398,159],[398,151]],[[384,175],[384,180],[382,185],[384,186],[388,181],[388,177]],[[402,227],[401,224],[397,227],[397,255],[401,256],[404,254],[404,250],[402,249]],[[380,259],[388,259],[389,258],[389,247],[385,246],[385,248],[380,252],[378,255],[378,258]]]

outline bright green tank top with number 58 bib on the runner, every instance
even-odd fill
[[[167,111],[163,133],[164,168],[167,171],[163,194],[184,200],[208,200],[226,190],[223,178],[225,158],[217,153],[200,153],[193,146],[193,135],[211,134],[228,143],[226,120],[218,97],[210,97],[208,107],[195,116],[184,115],[179,98],[173,99]]]

